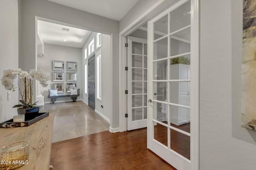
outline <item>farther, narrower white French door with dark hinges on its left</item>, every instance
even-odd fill
[[[147,40],[128,36],[127,130],[147,127]]]

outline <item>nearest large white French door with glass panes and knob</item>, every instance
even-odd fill
[[[191,7],[180,0],[149,22],[148,148],[178,170],[191,169]]]

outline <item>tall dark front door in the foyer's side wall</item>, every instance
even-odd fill
[[[88,104],[95,109],[95,55],[88,62]]]

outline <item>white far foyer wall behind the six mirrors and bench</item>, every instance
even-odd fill
[[[80,88],[80,94],[83,92],[82,88],[82,64],[81,64],[81,55],[82,50],[80,48],[74,47],[66,47],[61,45],[52,45],[52,44],[44,44],[44,57],[38,57],[38,70],[41,68],[44,70],[44,73],[51,76],[51,80],[48,81],[48,87],[43,88],[42,86],[38,86],[38,92],[43,94],[44,102],[51,103],[50,98],[48,96],[48,89],[52,89],[51,84],[53,83],[64,83],[64,94],[66,93],[66,83],[73,83],[73,82],[66,82],[66,63],[67,61],[77,62],[77,74],[76,79],[76,87]],[[64,72],[64,82],[52,82],[52,61],[64,61],[64,71],[55,71],[54,72]],[[63,94],[63,93],[61,93]],[[77,100],[82,100],[82,95],[80,95]],[[71,102],[73,101],[70,97],[68,98],[58,98],[56,102]]]

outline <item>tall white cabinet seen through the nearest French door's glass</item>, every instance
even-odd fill
[[[190,65],[173,64],[170,66],[171,80],[189,80]],[[170,82],[170,103],[190,106],[190,82]],[[190,109],[170,106],[170,121],[181,125],[190,121]]]

